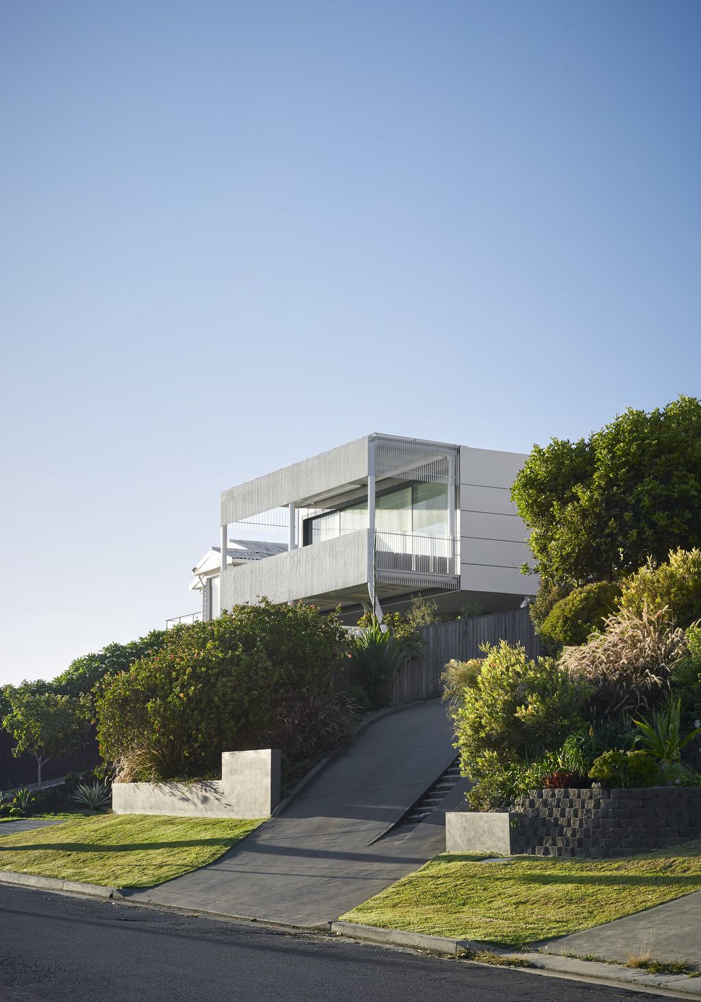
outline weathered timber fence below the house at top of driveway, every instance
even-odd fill
[[[415,702],[441,695],[441,675],[446,664],[453,658],[466,661],[471,657],[484,657],[480,650],[483,643],[508,640],[525,647],[529,657],[541,653],[540,640],[528,609],[437,623],[425,626],[420,632],[425,641],[424,649],[402,666],[390,694],[392,702]]]

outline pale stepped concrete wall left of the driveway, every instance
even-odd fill
[[[267,818],[280,799],[280,753],[222,752],[221,779],[197,783],[113,783],[114,814],[176,818]]]

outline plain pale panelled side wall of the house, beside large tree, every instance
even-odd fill
[[[535,595],[538,577],[522,574],[532,562],[528,530],[511,500],[526,456],[491,449],[460,449],[460,586],[464,591]]]

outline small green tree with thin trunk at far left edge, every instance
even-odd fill
[[[86,696],[77,698],[53,692],[46,683],[23,682],[6,685],[9,704],[2,725],[15,740],[13,756],[33,755],[37,765],[37,785],[41,788],[41,770],[49,759],[65,755],[87,736],[90,703]]]

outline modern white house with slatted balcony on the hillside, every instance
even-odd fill
[[[538,591],[511,500],[525,459],[373,434],[231,487],[219,546],[193,568],[201,617],[262,596],[340,606],[347,623],[417,595],[446,612],[516,608]],[[253,530],[286,541],[229,536]]]

